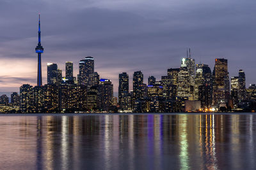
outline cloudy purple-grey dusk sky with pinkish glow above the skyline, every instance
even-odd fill
[[[256,1],[254,0],[1,0],[0,91],[36,84],[38,13],[41,13],[42,68],[47,62],[95,58],[95,71],[118,88],[118,74],[142,71],[160,80],[179,67],[186,48],[196,63],[214,66],[228,59],[230,76],[246,73],[256,83]],[[132,87],[132,81],[130,81]]]

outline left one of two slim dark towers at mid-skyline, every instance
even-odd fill
[[[119,85],[118,85],[118,99],[119,99],[119,105],[120,109],[124,110],[127,108],[125,106],[125,98],[129,94],[129,75],[127,73],[121,73],[119,74]]]

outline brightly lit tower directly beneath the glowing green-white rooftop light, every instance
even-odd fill
[[[186,66],[180,67],[177,80],[177,97],[186,97],[190,95],[189,72]]]

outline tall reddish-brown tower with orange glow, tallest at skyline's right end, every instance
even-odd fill
[[[212,74],[214,78],[213,104],[227,107],[230,91],[228,60],[215,59],[215,66]]]

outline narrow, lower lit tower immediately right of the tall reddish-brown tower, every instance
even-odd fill
[[[232,99],[233,107],[237,108],[238,100],[238,92],[239,92],[239,77],[233,76],[231,77],[231,90],[230,90],[230,97]]]

